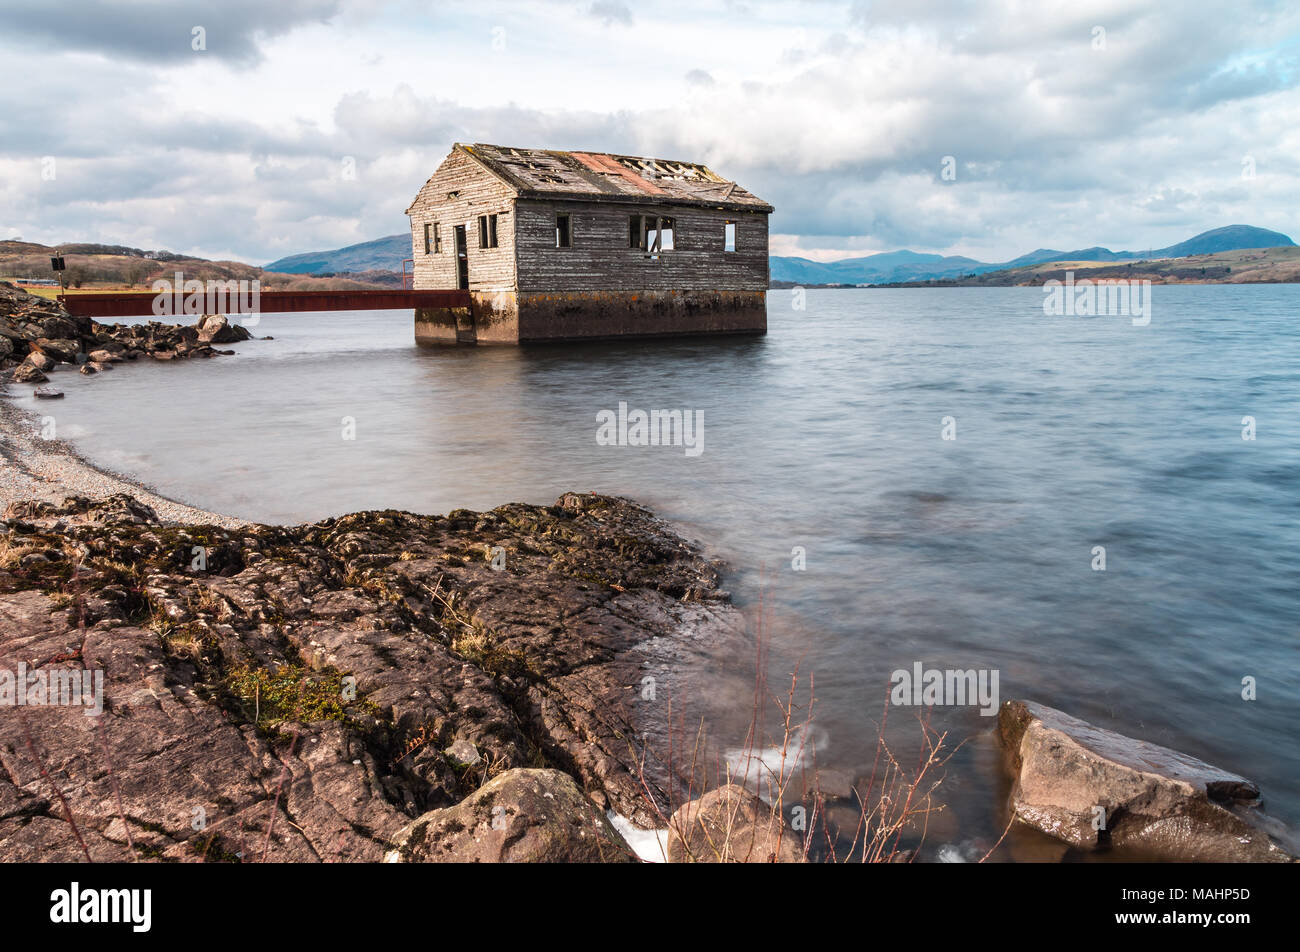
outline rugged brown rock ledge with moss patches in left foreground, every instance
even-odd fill
[[[624,861],[606,812],[668,802],[645,645],[736,639],[718,566],[615,497],[239,528],[12,503],[0,856]],[[100,672],[103,713],[16,706],[20,671]]]

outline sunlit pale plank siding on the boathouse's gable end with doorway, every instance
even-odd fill
[[[448,198],[450,192],[459,192]],[[407,209],[411,216],[411,248],[415,287],[456,286],[455,226],[465,226],[469,252],[469,290],[515,290],[515,190],[480,163],[454,151],[425,182]],[[497,247],[478,246],[478,216],[497,215]],[[424,226],[438,222],[442,252],[424,252]]]

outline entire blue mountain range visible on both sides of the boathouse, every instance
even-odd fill
[[[1204,231],[1186,242],[1150,251],[1112,251],[1110,248],[1080,248],[1054,251],[1039,248],[1010,261],[976,261],[961,255],[927,255],[915,251],[885,251],[866,258],[841,261],[810,261],[806,258],[780,258],[772,260],[772,281],[797,285],[885,285],[897,281],[930,281],[984,274],[1004,268],[1044,264],[1046,261],[1138,261],[1152,258],[1186,258],[1210,255],[1218,251],[1242,248],[1291,247],[1292,242],[1280,231],[1269,231],[1251,225],[1228,225]],[[411,256],[411,235],[390,234],[361,245],[348,245],[335,251],[311,251],[272,261],[266,271],[282,274],[339,274],[365,271],[402,271],[402,261]]]

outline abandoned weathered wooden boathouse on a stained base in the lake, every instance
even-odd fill
[[[460,144],[407,208],[420,343],[767,330],[772,207],[696,163]]]

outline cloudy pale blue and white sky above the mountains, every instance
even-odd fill
[[[263,264],[460,140],[703,161],[819,260],[1300,239],[1284,0],[0,0],[0,238]]]

